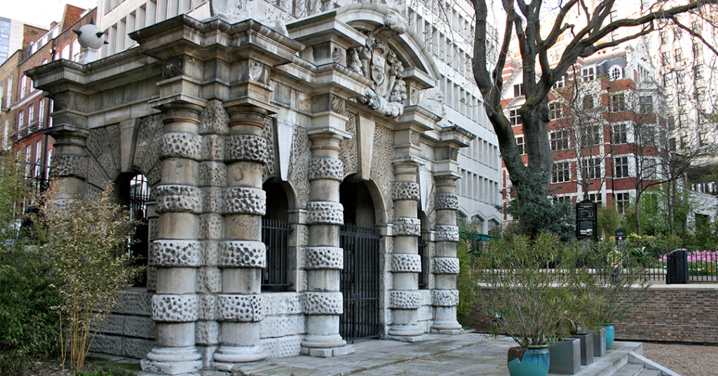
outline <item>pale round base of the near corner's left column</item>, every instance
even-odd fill
[[[181,375],[202,370],[202,354],[194,346],[155,347],[141,365],[146,372]]]

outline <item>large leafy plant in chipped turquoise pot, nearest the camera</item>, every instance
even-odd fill
[[[477,258],[482,304],[496,318],[493,334],[518,344],[508,352],[511,375],[547,375],[549,344],[569,337],[567,323],[584,299],[575,296],[572,273],[562,273],[575,268],[575,250],[554,235],[511,235],[488,243]]]

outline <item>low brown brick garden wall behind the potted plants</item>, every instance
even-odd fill
[[[488,288],[481,293],[493,295]],[[718,344],[718,283],[653,285],[646,293],[643,304],[615,323],[616,339]],[[481,304],[461,319],[477,332],[488,333],[493,325]]]

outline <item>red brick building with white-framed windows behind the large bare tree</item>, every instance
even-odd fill
[[[588,198],[625,211],[637,189],[658,182],[669,139],[663,88],[647,50],[630,49],[579,60],[549,95],[549,141],[554,151],[551,193],[556,201]],[[528,163],[518,108],[525,99],[520,62],[503,70],[503,108]],[[510,179],[503,168],[503,199]],[[509,220],[505,215],[505,220]]]

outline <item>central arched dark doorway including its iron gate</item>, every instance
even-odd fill
[[[342,182],[340,202],[344,206],[345,224],[339,232],[340,247],[344,250],[340,276],[344,313],[339,319],[339,332],[351,342],[378,338],[381,235],[374,227],[374,205],[362,182]]]

